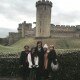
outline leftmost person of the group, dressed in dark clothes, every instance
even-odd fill
[[[24,46],[24,51],[21,52],[20,55],[20,75],[23,80],[28,80],[29,78],[29,62],[28,62],[28,54],[30,53],[29,51],[29,46],[25,45]]]

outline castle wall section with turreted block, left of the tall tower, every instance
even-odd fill
[[[15,43],[21,38],[25,37],[34,37],[35,36],[35,28],[32,28],[31,23],[20,23],[18,26],[18,32],[9,32],[9,45]]]

